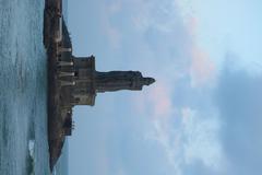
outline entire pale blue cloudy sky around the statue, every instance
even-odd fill
[[[142,92],[97,94],[73,109],[69,173],[262,172],[262,2],[74,0],[75,56],[98,71],[140,70]]]

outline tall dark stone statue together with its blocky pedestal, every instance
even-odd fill
[[[70,82],[62,82],[63,86],[72,86],[72,105],[94,105],[96,93],[114,92],[119,90],[140,91],[143,85],[155,82],[153,78],[143,78],[139,71],[109,71],[95,70],[95,57],[74,57],[70,62],[60,62],[68,67],[63,75],[72,75]],[[70,69],[70,66],[72,67]]]

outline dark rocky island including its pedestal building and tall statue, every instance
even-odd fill
[[[96,71],[94,56],[74,57],[62,18],[62,0],[46,0],[44,15],[44,44],[48,56],[48,144],[52,171],[66,137],[72,133],[73,106],[93,106],[97,93],[140,91],[155,80],[143,78],[139,71]]]

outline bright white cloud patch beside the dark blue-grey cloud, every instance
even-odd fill
[[[200,160],[207,167],[219,170],[223,149],[219,142],[221,124],[217,116],[203,118],[196,110],[182,109],[182,132],[184,133],[186,163]]]

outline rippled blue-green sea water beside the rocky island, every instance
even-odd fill
[[[0,175],[51,174],[44,7],[44,0],[0,0]],[[68,142],[52,174],[68,175]]]

